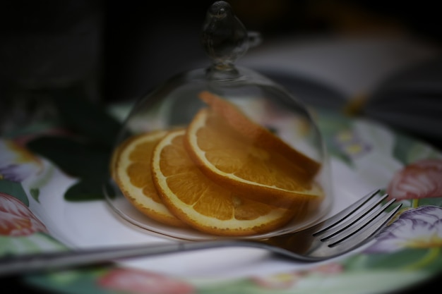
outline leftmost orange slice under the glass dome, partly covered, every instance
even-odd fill
[[[153,147],[166,134],[165,131],[130,137],[117,149],[111,160],[111,174],[121,192],[138,211],[150,219],[170,226],[186,227],[162,203],[152,180],[150,161]]]

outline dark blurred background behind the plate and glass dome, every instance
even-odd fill
[[[54,90],[80,87],[97,103],[127,102],[172,75],[208,66],[200,36],[214,2],[1,1],[0,132],[53,115],[48,97]],[[441,146],[436,1],[228,2],[246,28],[263,37],[239,65],[269,75],[308,103],[347,104],[352,114],[361,114],[363,105],[365,115]],[[413,66],[423,68],[416,73]],[[386,83],[407,68],[412,73],[393,88]],[[402,87],[410,82],[416,84],[411,90]],[[405,121],[410,111],[420,118],[430,111],[431,120],[389,121],[398,106]]]

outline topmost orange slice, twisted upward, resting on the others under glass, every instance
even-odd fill
[[[228,102],[216,100],[198,111],[184,144],[205,176],[251,200],[291,209],[323,200],[321,186],[313,181],[318,164]]]

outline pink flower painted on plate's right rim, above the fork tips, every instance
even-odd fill
[[[395,173],[387,193],[397,200],[442,197],[442,159],[422,159]]]

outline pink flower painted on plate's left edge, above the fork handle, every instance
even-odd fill
[[[47,233],[44,224],[16,197],[0,192],[0,235]]]

